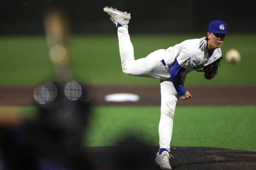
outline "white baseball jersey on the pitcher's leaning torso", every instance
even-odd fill
[[[215,49],[209,58],[207,40],[205,38],[185,40],[166,49],[164,61],[167,66],[171,67],[177,59],[181,67],[195,70],[219,59],[222,56],[220,48]]]

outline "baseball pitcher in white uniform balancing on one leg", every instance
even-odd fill
[[[161,86],[161,118],[159,122],[160,150],[156,153],[155,163],[161,169],[171,169],[169,163],[170,142],[174,111],[178,99],[188,100],[192,97],[184,88],[186,75],[197,70],[204,72],[206,79],[218,74],[218,66],[222,59],[220,47],[223,45],[227,32],[224,21],[210,22],[206,36],[176,44],[168,49],[160,49],[145,58],[134,59],[133,45],[128,33],[130,13],[104,7],[111,21],[117,26],[119,51],[122,70],[126,74],[160,79]],[[144,29],[144,28],[143,28]],[[229,34],[228,34],[229,35]],[[201,70],[198,70],[203,68]]]

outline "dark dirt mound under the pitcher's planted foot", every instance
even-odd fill
[[[148,168],[159,170],[154,163],[158,146],[149,147],[149,155],[144,155],[148,160]],[[113,169],[113,157],[110,157],[113,147],[88,147],[88,159],[95,166],[94,169]],[[129,153],[127,153],[129,154]],[[143,155],[143,151],[141,152]],[[175,170],[255,170],[256,152],[239,151],[211,147],[171,147],[170,164]],[[126,157],[126,155],[123,155]],[[128,156],[127,156],[128,157]],[[129,157],[126,158],[129,160]],[[138,164],[130,162],[130,164]]]

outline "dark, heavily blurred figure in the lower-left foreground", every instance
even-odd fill
[[[89,102],[71,101],[64,95],[64,84],[56,85],[55,100],[37,103],[37,118],[2,124],[2,169],[91,169],[82,146]]]

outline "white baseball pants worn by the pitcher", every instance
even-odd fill
[[[162,64],[165,50],[156,50],[145,58],[134,59],[133,45],[128,29],[118,27],[119,51],[122,70],[126,74],[160,79],[161,117],[159,122],[159,145],[170,151],[174,111],[178,101],[168,68]]]

